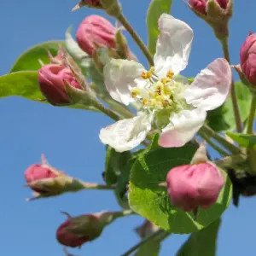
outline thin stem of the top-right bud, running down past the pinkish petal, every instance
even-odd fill
[[[220,43],[222,45],[224,57],[230,63],[230,51],[229,51],[229,46],[228,46],[228,38],[221,39]],[[241,117],[240,117],[240,113],[239,113],[235,84],[234,84],[233,79],[232,79],[232,84],[231,84],[231,100],[232,100],[233,111],[234,111],[234,115],[235,115],[235,119],[236,119],[236,131],[241,132],[242,131]]]

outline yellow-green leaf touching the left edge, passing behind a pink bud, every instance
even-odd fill
[[[37,71],[19,71],[15,73],[9,73],[0,77],[0,98],[7,96],[22,96],[26,99],[40,102],[45,97],[42,95],[38,84],[38,72]],[[41,101],[48,103],[47,101]],[[77,109],[90,109],[98,111],[96,108],[90,105],[76,104],[68,106],[68,108]]]

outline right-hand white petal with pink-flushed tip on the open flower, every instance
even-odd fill
[[[213,61],[198,74],[183,96],[195,108],[212,110],[221,106],[230,93],[231,67],[225,59]]]

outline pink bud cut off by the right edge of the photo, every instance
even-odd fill
[[[241,45],[240,65],[247,80],[256,86],[256,33],[248,36]]]

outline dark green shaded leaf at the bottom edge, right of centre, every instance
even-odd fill
[[[220,219],[216,220],[206,229],[189,236],[183,247],[177,252],[177,256],[215,256],[216,242],[218,239],[218,229]]]

